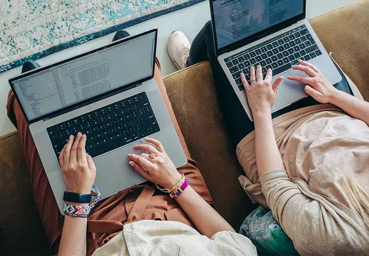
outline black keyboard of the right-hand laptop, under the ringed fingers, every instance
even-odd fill
[[[269,68],[273,70],[273,76],[291,69],[292,65],[299,64],[299,59],[309,61],[322,55],[306,26],[293,29],[289,32],[247,49],[232,57],[224,59],[228,70],[240,91],[245,90],[241,81],[241,72],[250,83],[250,67],[262,66],[263,77]]]

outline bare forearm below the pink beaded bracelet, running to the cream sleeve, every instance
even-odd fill
[[[202,235],[210,238],[220,231],[235,232],[191,186],[176,197],[176,200]]]

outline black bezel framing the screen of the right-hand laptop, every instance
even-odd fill
[[[215,46],[215,56],[218,57],[224,53],[234,51],[238,48],[241,48],[249,43],[252,43],[254,41],[259,40],[260,38],[266,37],[270,34],[273,34],[275,32],[278,32],[280,30],[283,30],[285,28],[288,28],[289,26],[295,24],[296,22],[299,22],[301,20],[304,20],[306,18],[306,0],[304,0],[304,12],[302,14],[299,14],[295,17],[292,17],[284,22],[281,22],[277,25],[274,25],[272,27],[269,27],[268,29],[265,29],[263,31],[257,32],[251,36],[248,36],[244,39],[241,39],[237,42],[234,42],[232,44],[229,44],[227,46],[224,46],[220,49],[218,49],[217,40],[216,40],[216,30],[215,30],[215,19],[214,19],[214,8],[213,8],[213,2],[216,0],[209,0],[210,4],[210,12],[212,17],[212,28],[213,28],[213,40],[214,40],[214,46]]]

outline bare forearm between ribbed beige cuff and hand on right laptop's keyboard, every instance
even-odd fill
[[[274,135],[271,110],[253,115],[255,123],[255,154],[259,177],[264,173],[284,169]]]

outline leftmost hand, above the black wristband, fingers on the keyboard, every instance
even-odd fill
[[[89,194],[95,182],[96,167],[86,153],[86,134],[78,132],[74,143],[73,138],[69,136],[59,156],[65,186],[68,192]]]

